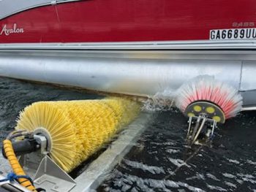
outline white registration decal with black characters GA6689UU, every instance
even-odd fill
[[[256,28],[214,29],[210,31],[210,39],[256,39]]]

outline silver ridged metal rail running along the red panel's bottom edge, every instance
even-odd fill
[[[256,48],[253,39],[189,40],[155,42],[7,43],[0,50],[248,50]]]

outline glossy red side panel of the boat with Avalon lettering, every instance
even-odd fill
[[[0,20],[0,43],[210,40],[213,29],[255,28],[255,12],[255,0],[77,1]]]

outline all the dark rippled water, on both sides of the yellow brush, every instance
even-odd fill
[[[34,101],[97,99],[83,91],[0,77],[0,139]],[[161,100],[162,101],[162,100]],[[256,112],[228,120],[211,147],[189,147],[187,119],[156,111],[153,123],[97,191],[256,191]]]

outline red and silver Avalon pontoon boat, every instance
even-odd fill
[[[9,0],[0,7],[1,76],[153,96],[208,74],[241,91],[244,106],[256,104],[253,0]]]

